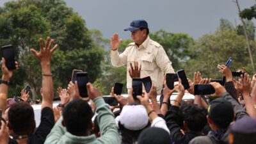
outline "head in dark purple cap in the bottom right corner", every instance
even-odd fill
[[[256,118],[244,116],[230,127],[228,142],[230,144],[253,144],[256,141]]]

